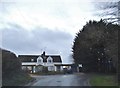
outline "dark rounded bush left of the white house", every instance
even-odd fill
[[[10,51],[2,49],[2,75],[3,77],[11,77],[15,73],[21,71],[21,62],[16,55]]]

